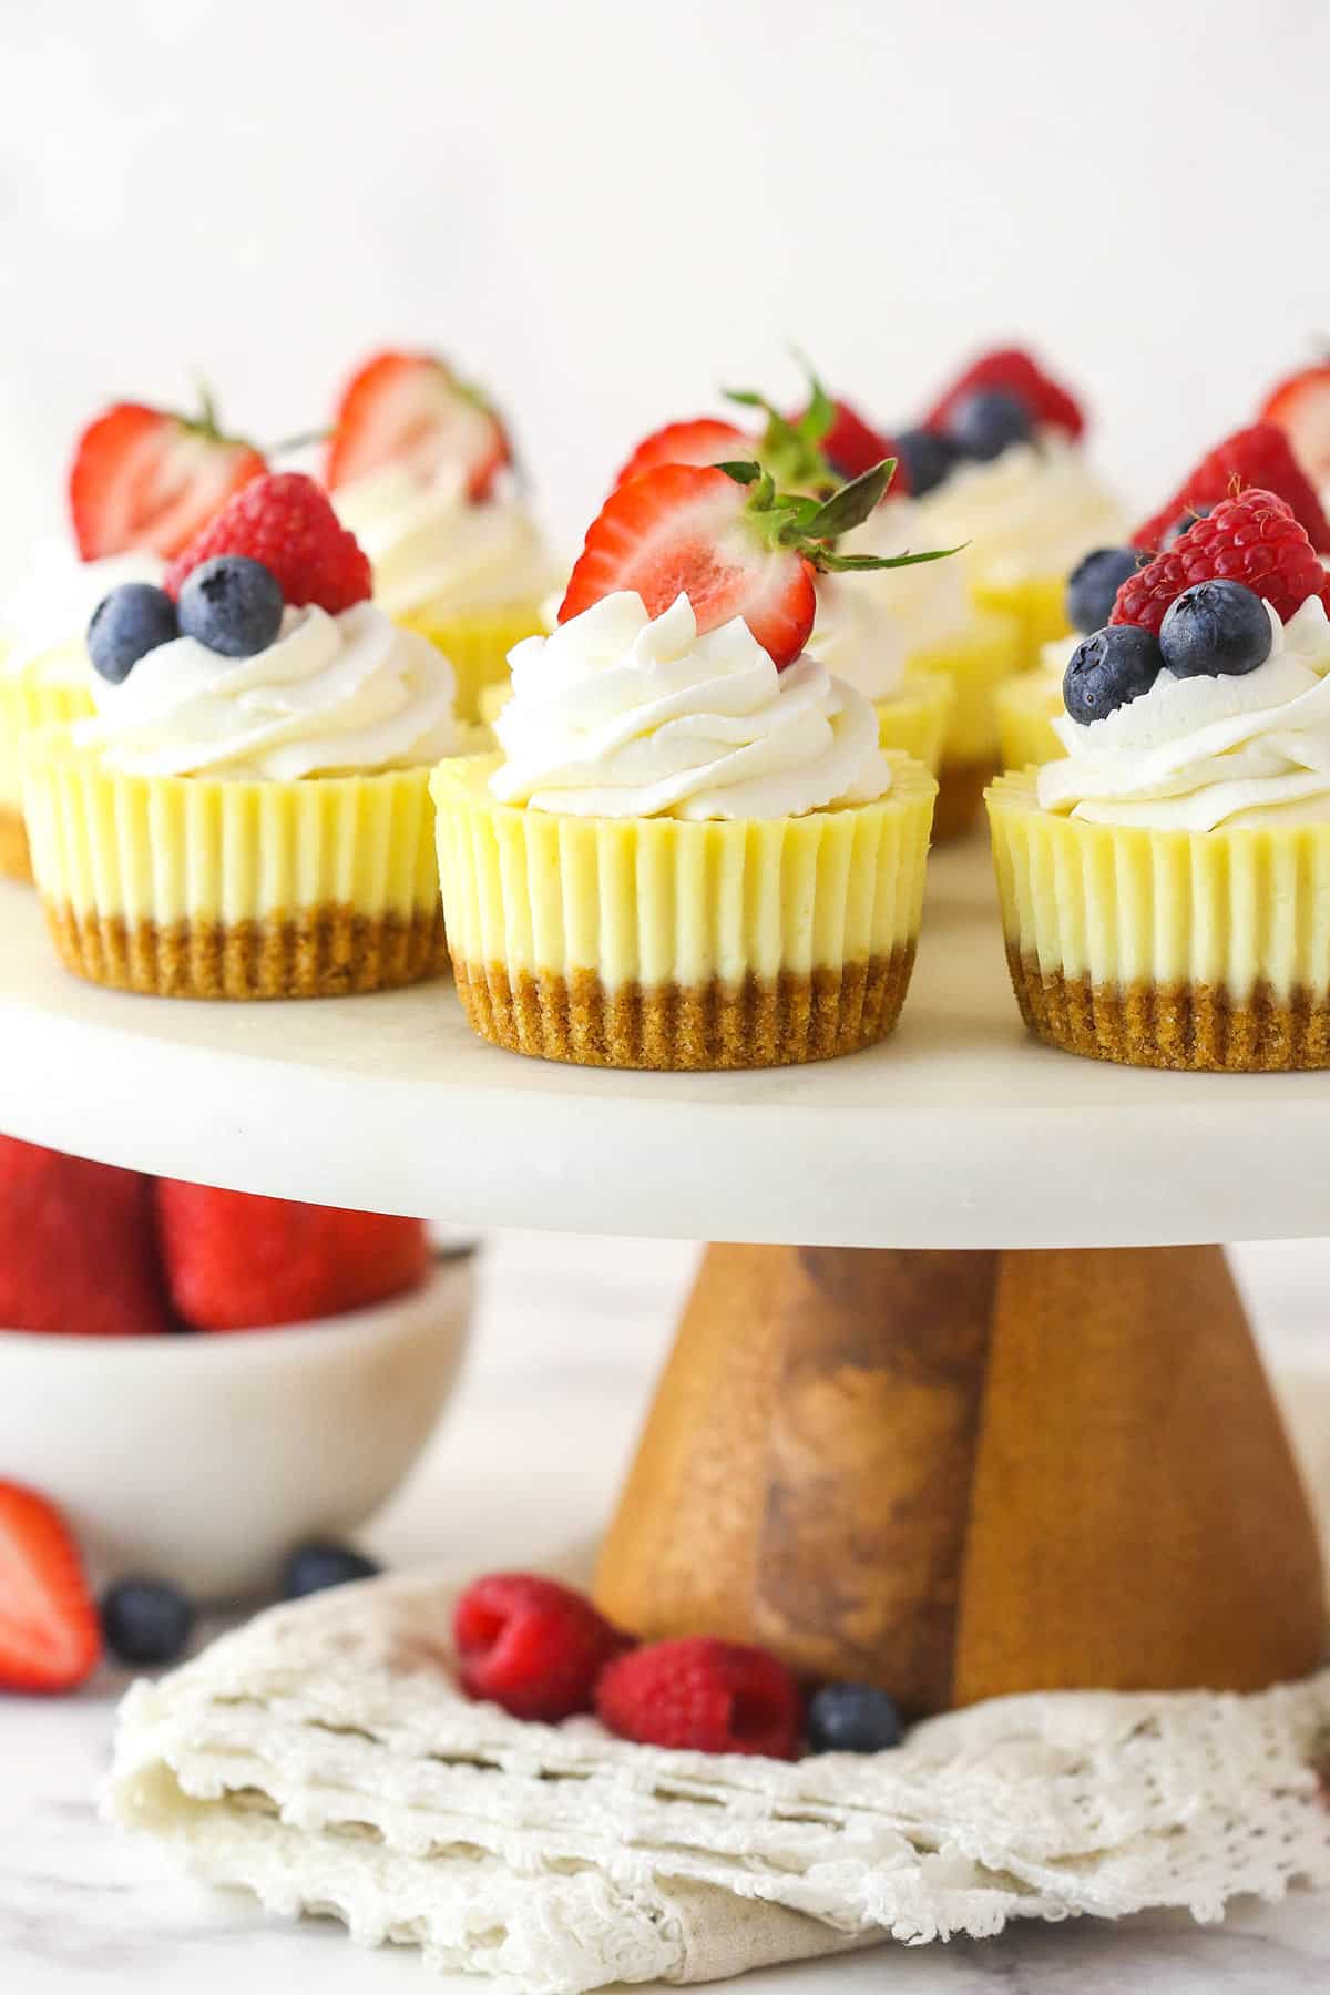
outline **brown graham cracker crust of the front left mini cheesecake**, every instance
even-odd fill
[[[443,910],[367,916],[311,908],[271,922],[126,924],[46,902],[66,970],[158,998],[349,998],[443,976]]]

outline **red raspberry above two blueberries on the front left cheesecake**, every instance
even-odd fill
[[[317,602],[339,616],[369,598],[369,561],[327,493],[303,471],[255,479],[171,563],[166,589],[179,600],[189,575],[215,555],[247,555],[277,581],[293,606]]]

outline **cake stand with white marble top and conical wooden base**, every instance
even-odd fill
[[[0,1127],[461,1225],[700,1237],[598,1592],[911,1712],[1246,1690],[1322,1656],[1310,1510],[1224,1239],[1330,1231],[1330,1073],[1031,1043],[987,852],[931,860],[883,1047],[752,1075],[516,1059],[447,984],[122,998],[0,892]]]

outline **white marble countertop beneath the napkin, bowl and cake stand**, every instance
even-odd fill
[[[371,1534],[393,1564],[536,1562],[588,1538],[636,1422],[692,1267],[670,1243],[510,1235],[487,1253],[475,1359],[451,1418]],[[1282,1365],[1316,1363],[1330,1247],[1244,1249],[1256,1323]],[[1330,1361],[1330,1353],[1326,1359]],[[1302,1396],[1302,1395],[1300,1395]],[[1310,1436],[1316,1442],[1316,1434]],[[1330,1434],[1324,1436],[1330,1458]],[[341,1927],[299,1929],[175,1875],[106,1829],[94,1794],[114,1700],[106,1678],[76,1700],[0,1702],[0,1991],[144,1995],[175,1987],[393,1995],[485,1983],[421,1979],[411,1951],[373,1955]],[[1019,1925],[999,1939],[873,1953],[752,1975],[770,1995],[1304,1995],[1330,1981],[1330,1895],[1242,1905],[1224,1925],[1178,1915],[1119,1925]]]

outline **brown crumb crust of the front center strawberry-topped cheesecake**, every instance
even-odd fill
[[[740,986],[666,984],[606,990],[594,970],[518,976],[502,964],[455,962],[457,994],[475,1031],[510,1053],[576,1067],[714,1071],[835,1059],[895,1025],[915,948],[812,976],[750,976]]]

